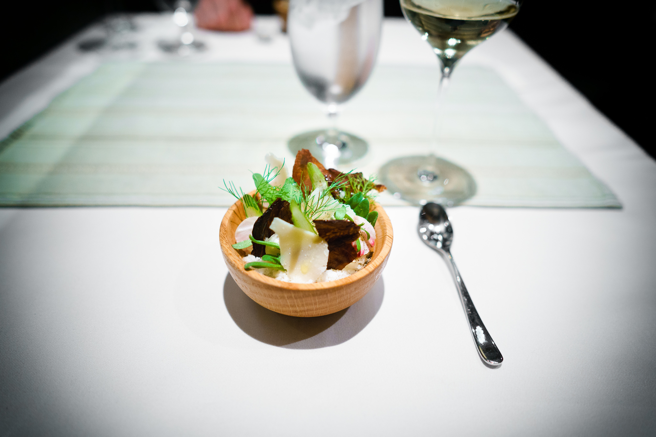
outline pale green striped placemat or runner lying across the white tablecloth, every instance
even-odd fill
[[[356,165],[429,151],[437,68],[378,66],[340,127],[367,139]],[[483,206],[620,207],[493,71],[461,67],[436,151],[466,168]],[[293,67],[106,64],[0,143],[0,205],[228,206],[268,152],[325,127]],[[391,195],[382,204],[400,204]]]

